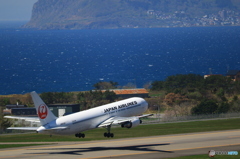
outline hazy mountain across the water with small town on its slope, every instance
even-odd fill
[[[239,25],[239,10],[239,0],[38,0],[24,28]]]

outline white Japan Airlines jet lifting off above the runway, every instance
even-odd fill
[[[8,129],[35,130],[40,134],[70,135],[84,138],[83,131],[106,128],[104,137],[114,137],[110,132],[112,125],[121,125],[122,128],[133,128],[142,123],[141,118],[153,114],[140,115],[148,109],[148,103],[139,97],[133,97],[118,102],[106,104],[96,108],[80,111],[57,118],[39,95],[33,91],[30,93],[38,114],[40,127],[9,127]],[[36,122],[33,117],[5,116],[11,119],[24,119]]]

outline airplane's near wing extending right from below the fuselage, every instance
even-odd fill
[[[107,127],[110,125],[117,125],[117,124],[121,125],[126,122],[131,122],[134,120],[138,120],[139,118],[144,118],[152,115],[153,114],[145,114],[145,115],[133,116],[133,117],[112,117],[102,122],[100,125],[98,125],[98,127]]]

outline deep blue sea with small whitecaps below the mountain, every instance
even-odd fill
[[[0,95],[142,88],[177,74],[240,70],[240,27],[34,30],[0,23]]]

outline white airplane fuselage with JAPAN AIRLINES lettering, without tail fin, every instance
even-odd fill
[[[104,121],[112,117],[130,117],[140,115],[148,108],[147,102],[138,97],[99,106],[89,110],[70,114],[53,120],[38,128],[39,133],[48,134],[76,134],[89,129],[97,128]],[[54,128],[66,127],[54,130]],[[46,131],[46,129],[52,129]]]

